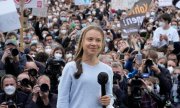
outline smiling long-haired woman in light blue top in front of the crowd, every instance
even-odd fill
[[[98,59],[98,55],[104,46],[103,31],[97,26],[87,27],[82,32],[78,45],[75,61],[69,62],[63,69],[58,87],[57,108],[112,105],[110,103],[112,97],[112,69]],[[105,96],[101,96],[100,85],[97,82],[97,76],[100,72],[108,74],[107,95]],[[91,78],[89,78],[90,76]],[[92,88],[88,91],[84,90],[87,87]],[[75,91],[78,91],[78,94]],[[88,98],[85,99],[79,93],[83,93]],[[89,95],[89,93],[91,94]],[[74,99],[76,99],[76,102]]]

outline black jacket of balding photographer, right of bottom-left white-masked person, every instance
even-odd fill
[[[40,97],[38,97],[36,103],[32,100],[32,94],[29,96],[25,108],[56,108],[57,104],[57,94],[50,93],[49,104],[44,105]]]

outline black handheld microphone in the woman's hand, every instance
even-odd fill
[[[106,95],[106,88],[105,85],[108,82],[108,74],[106,72],[101,72],[98,75],[98,83],[101,85],[101,95]],[[103,106],[102,108],[106,108],[106,106]]]

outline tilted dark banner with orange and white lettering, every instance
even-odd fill
[[[139,32],[150,4],[151,0],[140,0],[135,3],[132,10],[128,12],[128,16],[120,20],[121,33],[123,36]]]

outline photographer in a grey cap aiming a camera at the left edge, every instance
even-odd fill
[[[16,40],[6,40],[5,50],[0,54],[0,70],[5,70],[6,74],[17,76],[24,70],[26,57],[17,48]]]

